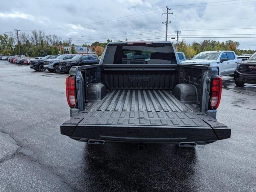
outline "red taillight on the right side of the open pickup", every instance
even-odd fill
[[[211,91],[210,91],[210,109],[216,110],[220,104],[222,90],[222,79],[220,76],[212,78]]]

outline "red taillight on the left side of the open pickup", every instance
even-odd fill
[[[75,107],[76,105],[76,80],[75,76],[68,76],[66,78],[66,95],[68,105]]]

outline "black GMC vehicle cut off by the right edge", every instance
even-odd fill
[[[256,84],[256,53],[237,64],[234,80],[238,87],[243,87],[245,83]]]

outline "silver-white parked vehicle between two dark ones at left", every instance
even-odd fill
[[[64,54],[59,55],[56,59],[46,59],[44,60],[44,68],[50,72],[60,72],[59,61],[72,59],[76,55],[77,54]]]

